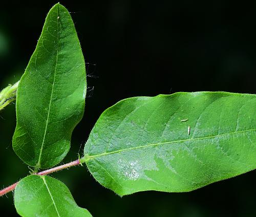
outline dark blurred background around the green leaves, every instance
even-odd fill
[[[57,3],[8,2],[0,6],[2,88],[23,74],[47,12]],[[90,63],[86,111],[73,133],[66,163],[76,160],[79,150],[82,153],[105,108],[123,98],[180,91],[255,93],[253,1],[60,3],[71,12],[84,57]],[[28,167],[11,146],[14,104],[0,116],[0,187],[4,187],[26,176]],[[255,216],[255,175],[255,171],[248,172],[188,193],[148,191],[123,198],[99,185],[85,166],[53,177],[66,183],[77,204],[94,216]],[[12,194],[7,196],[0,198],[0,215],[16,216]]]

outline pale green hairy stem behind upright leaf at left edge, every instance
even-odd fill
[[[16,92],[18,88],[18,82],[15,84],[9,84],[5,89],[0,92],[0,111],[4,109],[5,106],[10,104],[16,99]]]

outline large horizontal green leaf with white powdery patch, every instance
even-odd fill
[[[100,116],[81,162],[120,196],[191,191],[255,168],[255,107],[255,95],[223,92],[125,99]]]

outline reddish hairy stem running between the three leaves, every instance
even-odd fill
[[[52,172],[56,172],[56,171],[59,171],[59,170],[62,170],[62,169],[66,169],[66,168],[69,168],[71,166],[76,166],[76,165],[79,165],[79,164],[81,164],[81,163],[80,163],[80,160],[78,159],[76,161],[72,161],[72,162],[67,163],[67,164],[56,166],[56,167],[51,168],[51,169],[47,169],[47,170],[44,170],[44,171],[41,171],[41,172],[33,173],[33,175],[45,176],[45,175],[48,175],[48,174],[50,174]],[[4,188],[3,190],[0,190],[0,197],[3,196],[4,194],[14,190],[17,184],[18,184],[18,182],[10,185],[7,188]]]

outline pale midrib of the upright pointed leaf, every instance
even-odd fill
[[[58,63],[58,51],[59,51],[59,23],[58,23],[58,17],[59,17],[59,7],[57,7],[57,52],[56,52],[56,64],[55,64],[55,70],[54,70],[54,78],[53,78],[53,84],[52,84],[52,92],[51,92],[51,97],[50,97],[50,102],[49,102],[49,110],[48,110],[48,115],[47,115],[47,120],[46,120],[46,127],[45,127],[45,134],[44,138],[42,139],[42,144],[40,148],[40,154],[38,158],[38,162],[36,164],[36,169],[40,168],[40,161],[41,161],[41,155],[42,155],[42,149],[45,144],[45,139],[46,139],[46,133],[47,133],[47,128],[49,124],[49,118],[50,118],[50,110],[51,110],[51,104],[52,104],[52,96],[53,96],[53,90],[54,90],[54,84],[55,84],[55,78],[56,78],[56,71],[57,71],[57,63]]]

